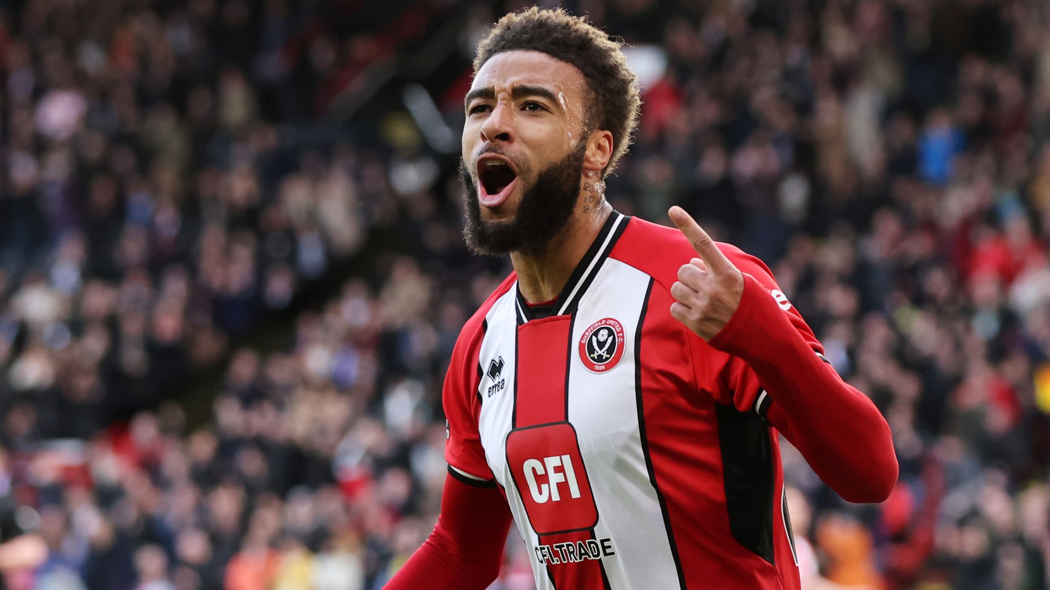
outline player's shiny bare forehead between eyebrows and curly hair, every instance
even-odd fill
[[[497,92],[528,84],[547,86],[566,99],[580,99],[587,81],[576,66],[542,51],[503,51],[488,59],[474,77],[470,89],[494,88]]]

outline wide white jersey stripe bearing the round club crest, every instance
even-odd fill
[[[568,418],[589,467],[598,510],[595,536],[611,538],[616,550],[615,557],[603,560],[611,590],[679,587],[638,428],[636,336],[650,280],[633,267],[606,259],[581,299],[572,326]],[[578,345],[595,322],[606,319],[623,326],[625,349],[615,366],[596,372]]]

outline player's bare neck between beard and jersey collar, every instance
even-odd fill
[[[578,208],[543,248],[510,253],[518,287],[526,301],[542,303],[558,297],[611,213],[612,206],[604,199],[598,207]]]

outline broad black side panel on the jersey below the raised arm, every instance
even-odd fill
[[[773,447],[757,413],[715,404],[729,528],[740,545],[776,565],[773,556]]]

